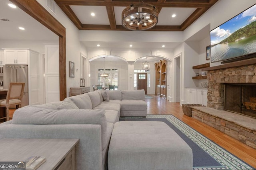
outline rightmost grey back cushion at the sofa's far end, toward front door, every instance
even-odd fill
[[[144,100],[145,90],[123,90],[122,100]]]

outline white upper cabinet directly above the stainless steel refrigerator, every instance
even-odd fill
[[[29,50],[26,49],[5,49],[5,64],[28,64]]]

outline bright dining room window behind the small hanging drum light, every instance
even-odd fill
[[[108,77],[102,78],[100,74],[104,73],[103,68],[98,69],[98,85],[108,87],[109,85],[118,85],[118,69],[105,69],[105,74]]]

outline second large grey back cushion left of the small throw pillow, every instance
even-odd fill
[[[92,109],[92,102],[87,94],[80,94],[69,97],[79,109]]]

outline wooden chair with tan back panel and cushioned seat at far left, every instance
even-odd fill
[[[9,107],[15,105],[16,109],[21,107],[25,83],[11,82],[6,99],[0,100],[0,107],[6,107],[6,119],[10,120]]]

